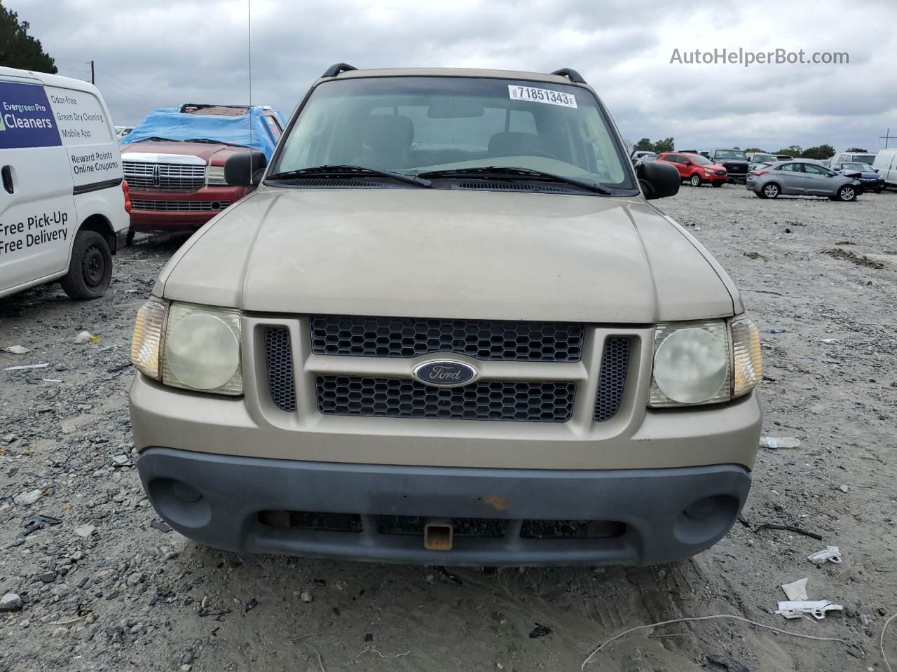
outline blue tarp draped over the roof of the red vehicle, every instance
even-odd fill
[[[277,141],[268,126],[263,109],[249,108],[248,114],[239,116],[194,115],[179,112],[180,108],[157,108],[122,138],[127,142],[142,142],[150,138],[166,140],[192,140],[202,138],[214,142],[230,142],[265,153],[268,159]],[[274,111],[283,124],[283,116]],[[251,133],[250,133],[251,130]]]

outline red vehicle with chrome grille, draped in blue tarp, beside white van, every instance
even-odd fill
[[[282,131],[281,119],[267,107],[185,105],[154,110],[121,148],[131,196],[126,242],[130,244],[135,231],[199,228],[239,201],[247,189],[227,185],[224,162],[250,146],[273,149]],[[256,147],[253,143],[259,140],[264,143]]]

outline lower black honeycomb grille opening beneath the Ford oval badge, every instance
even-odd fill
[[[575,383],[480,381],[431,387],[406,378],[315,377],[318,410],[331,416],[566,422]]]

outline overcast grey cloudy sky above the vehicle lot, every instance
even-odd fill
[[[680,149],[897,135],[897,3],[251,0],[252,99],[288,115],[328,65],[579,70],[623,137]],[[4,0],[97,84],[117,124],[181,102],[248,100],[247,0]],[[859,9],[862,11],[859,11]],[[848,52],[848,65],[671,64],[674,49]],[[897,141],[891,141],[891,146]]]

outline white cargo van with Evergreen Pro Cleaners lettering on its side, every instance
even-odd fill
[[[100,91],[0,67],[0,177],[0,297],[52,280],[102,296],[129,205]]]

